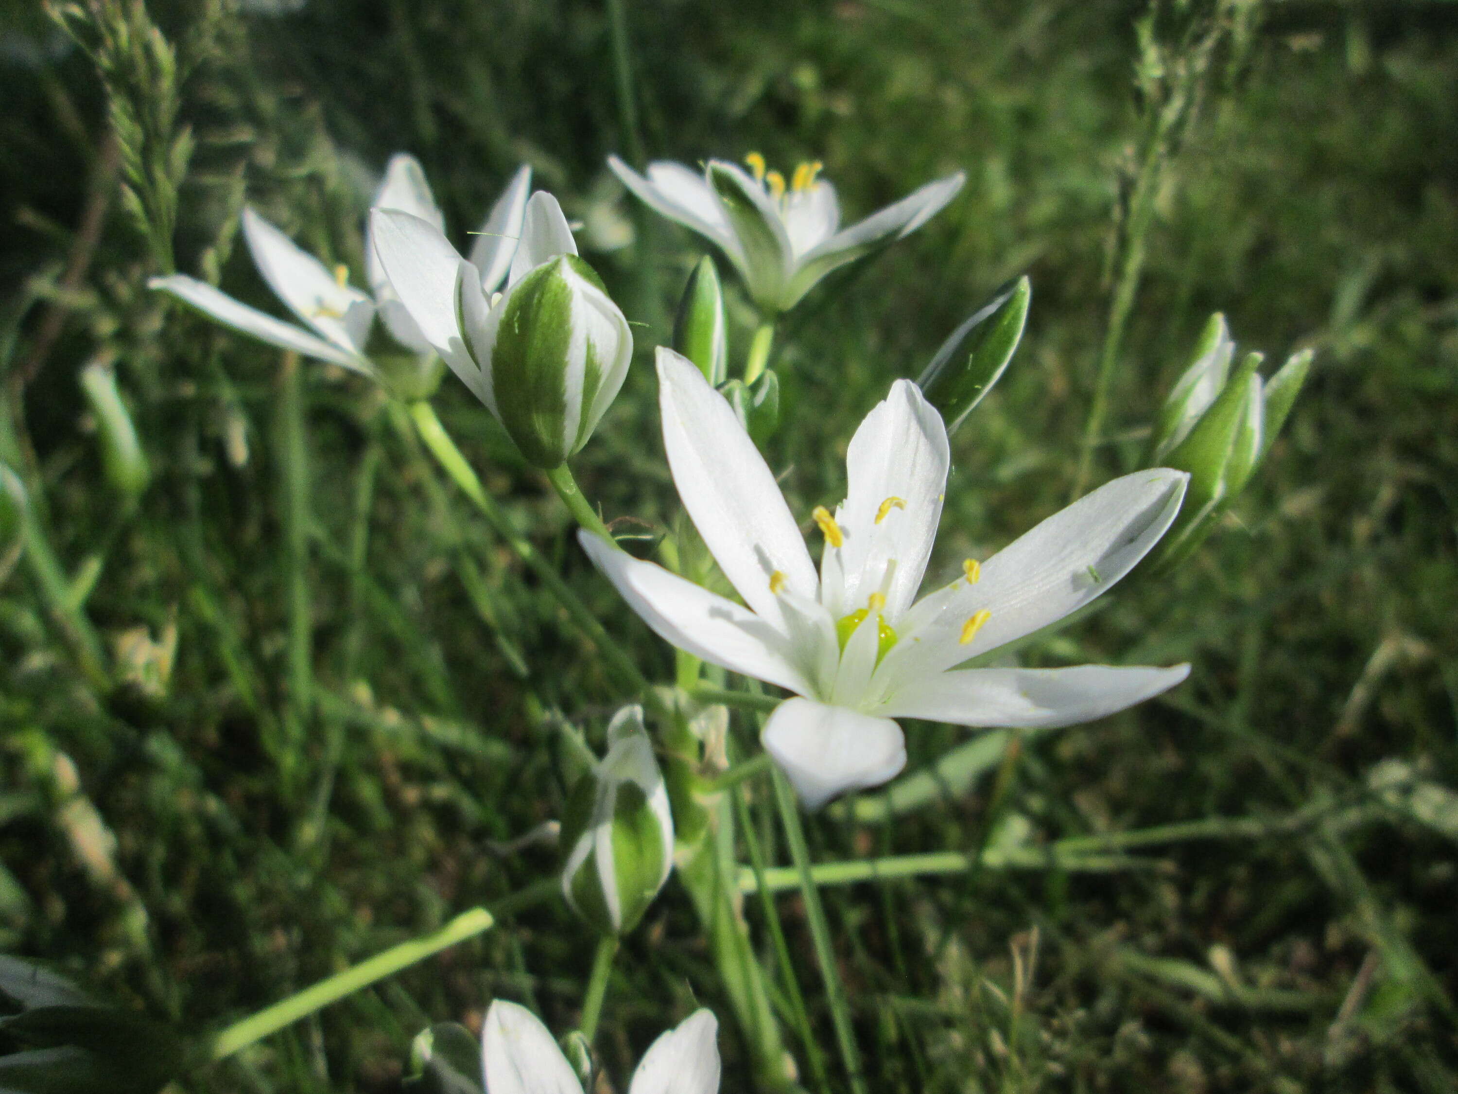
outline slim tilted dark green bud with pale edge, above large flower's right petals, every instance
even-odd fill
[[[921,372],[917,387],[942,414],[948,433],[967,420],[1007,368],[1022,341],[1031,299],[1032,283],[1019,277],[952,331]]]

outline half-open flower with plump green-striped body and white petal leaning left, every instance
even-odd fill
[[[580,449],[627,378],[633,330],[577,257],[557,198],[532,194],[506,292],[440,229],[395,209],[370,213],[375,252],[424,340],[512,435],[532,464]]]

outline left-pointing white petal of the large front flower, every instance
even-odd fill
[[[577,540],[628,607],[665,642],[732,672],[800,694],[811,691],[789,643],[754,613],[588,531],[577,532]]]

